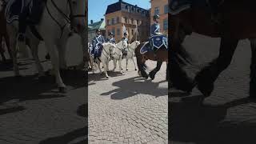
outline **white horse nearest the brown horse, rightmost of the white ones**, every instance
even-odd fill
[[[124,57],[126,58],[126,70],[128,70],[128,60],[131,59],[134,62],[134,50],[140,44],[139,41],[134,41],[128,46],[127,55]],[[134,62],[134,69],[137,70],[136,64]]]

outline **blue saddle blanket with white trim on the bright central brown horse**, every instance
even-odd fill
[[[166,36],[164,35],[154,35],[150,38],[149,42],[146,42],[141,50],[141,54],[145,54],[147,51],[151,50],[150,48],[150,42],[154,46],[154,50],[157,51],[160,49],[162,46],[165,46],[166,50],[168,50],[168,40]]]

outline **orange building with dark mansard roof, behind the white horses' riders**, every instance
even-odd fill
[[[144,42],[150,35],[150,11],[122,0],[107,6],[105,22],[106,35],[114,33],[116,42],[122,40],[123,26],[128,31],[129,42],[136,39]]]

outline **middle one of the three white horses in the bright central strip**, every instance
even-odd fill
[[[122,74],[122,51],[126,48],[128,48],[128,44],[126,41],[120,41],[116,44],[116,49],[114,51],[114,54],[112,55],[112,60],[114,62],[114,68],[113,71],[116,69],[117,67],[117,61],[119,64],[119,70],[120,73]]]

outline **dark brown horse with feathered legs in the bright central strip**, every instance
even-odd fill
[[[143,78],[148,78],[150,76],[151,79],[154,79],[155,74],[160,70],[162,66],[162,62],[166,62],[166,80],[168,80],[169,71],[168,71],[168,50],[164,46],[160,47],[155,53],[153,51],[148,51],[145,54],[141,54],[140,50],[142,46],[144,46],[145,42],[142,42],[137,46],[134,53],[137,58],[137,65],[138,65],[138,74],[142,74]],[[146,60],[157,61],[157,66],[154,70],[150,71],[149,74],[146,73]]]

